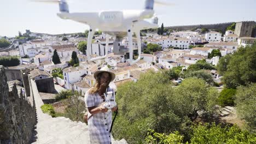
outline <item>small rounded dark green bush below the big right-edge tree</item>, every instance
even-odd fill
[[[236,89],[225,88],[220,92],[219,96],[219,105],[221,106],[233,106],[234,105],[234,96],[236,94]]]

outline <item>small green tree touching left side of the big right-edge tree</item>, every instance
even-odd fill
[[[228,69],[228,64],[229,64],[231,57],[232,57],[231,55],[226,55],[219,59],[219,62],[217,64],[217,70],[220,75],[223,75],[226,72],[226,70]]]

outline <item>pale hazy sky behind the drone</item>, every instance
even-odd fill
[[[180,26],[222,22],[256,21],[255,0],[159,0],[172,6],[155,5],[159,25]],[[143,9],[143,0],[71,0],[69,12]],[[82,23],[60,19],[58,4],[30,0],[1,0],[0,36],[15,37],[18,31],[62,34],[84,32]]]

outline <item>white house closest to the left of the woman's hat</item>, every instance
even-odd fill
[[[83,67],[69,67],[63,69],[65,88],[72,89],[72,84],[78,80],[81,80],[81,76],[84,74],[86,74],[86,70]]]

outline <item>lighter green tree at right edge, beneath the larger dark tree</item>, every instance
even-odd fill
[[[238,87],[235,104],[238,116],[245,119],[250,131],[256,133],[256,83]]]

